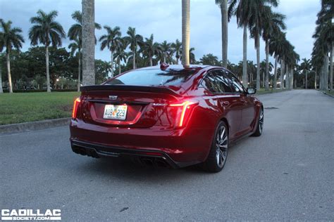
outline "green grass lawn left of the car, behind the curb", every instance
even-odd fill
[[[0,125],[70,117],[78,92],[1,93]]]

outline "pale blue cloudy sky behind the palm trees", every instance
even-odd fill
[[[320,0],[280,0],[278,11],[286,15],[287,40],[295,46],[300,58],[310,58],[313,47],[311,38],[315,30],[316,14],[320,10]],[[0,0],[0,18],[12,20],[14,27],[23,30],[25,44],[23,51],[30,47],[28,32],[32,26],[30,18],[42,9],[45,12],[58,11],[56,20],[67,32],[75,22],[73,11],[81,11],[80,0]],[[128,27],[135,27],[137,34],[154,41],[168,42],[182,39],[181,0],[95,0],[95,21],[110,27],[119,26],[122,35]],[[99,38],[106,31],[97,30]],[[63,39],[63,47],[70,40]],[[261,41],[261,60],[264,60],[264,41]],[[213,53],[221,60],[221,12],[214,0],[190,0],[190,47],[195,48],[196,59]],[[109,61],[110,51],[95,48],[95,58]],[[254,40],[249,39],[247,58],[256,60]],[[239,63],[242,60],[242,29],[237,28],[235,18],[228,24],[228,60]],[[271,58],[273,63],[273,59]]]

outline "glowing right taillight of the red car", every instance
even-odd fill
[[[175,126],[185,126],[192,112],[192,108],[198,103],[199,102],[196,100],[186,100],[182,103],[171,103],[169,107],[177,108],[175,115]]]

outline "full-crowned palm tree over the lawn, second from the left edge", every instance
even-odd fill
[[[47,92],[51,92],[50,74],[49,74],[49,46],[61,46],[61,38],[65,38],[65,32],[61,24],[55,21],[57,11],[45,13],[42,10],[37,11],[37,16],[30,18],[30,22],[34,24],[29,31],[29,39],[32,46],[44,44],[45,46],[45,62],[47,67]]]

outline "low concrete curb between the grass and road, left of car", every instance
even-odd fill
[[[47,129],[55,126],[66,126],[70,124],[70,118],[47,119],[36,122],[25,122],[21,124],[8,124],[0,126],[0,133],[18,133],[37,129]]]

